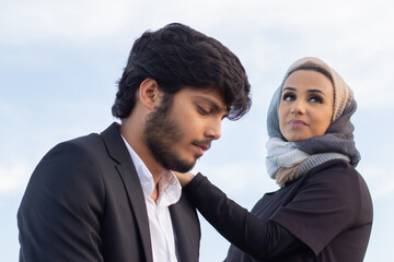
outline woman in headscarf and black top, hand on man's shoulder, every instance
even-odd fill
[[[355,167],[351,90],[322,60],[294,62],[267,117],[267,171],[280,189],[252,212],[201,174],[177,174],[184,193],[232,246],[228,262],[362,261],[372,202]]]

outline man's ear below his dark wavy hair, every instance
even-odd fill
[[[139,88],[139,99],[149,110],[159,106],[161,102],[161,91],[158,82],[152,79],[142,81]]]

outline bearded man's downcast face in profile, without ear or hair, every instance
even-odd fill
[[[184,87],[148,115],[144,139],[153,157],[165,169],[190,170],[197,158],[220,138],[228,115],[218,88]]]

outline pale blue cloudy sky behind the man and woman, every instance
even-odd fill
[[[390,261],[393,13],[390,0],[0,0],[0,261],[18,261],[16,211],[39,159],[116,121],[116,82],[134,41],[172,22],[217,38],[247,72],[251,111],[223,120],[221,139],[194,171],[250,210],[278,189],[265,168],[266,111],[286,70],[314,56],[339,72],[358,102],[357,170],[374,206],[364,261]],[[200,221],[200,261],[222,261],[229,242]]]

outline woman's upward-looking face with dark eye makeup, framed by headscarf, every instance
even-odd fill
[[[334,86],[323,73],[298,70],[286,80],[279,104],[280,132],[287,141],[323,135],[334,114]]]

